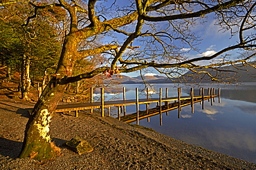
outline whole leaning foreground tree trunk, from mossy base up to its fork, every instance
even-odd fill
[[[64,41],[55,75],[42,92],[28,120],[19,158],[48,160],[55,158],[60,153],[60,149],[51,142],[49,134],[51,118],[68,85],[60,82],[71,76],[76,52],[75,36],[69,34]]]

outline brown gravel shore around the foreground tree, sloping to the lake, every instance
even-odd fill
[[[256,164],[186,144],[156,131],[81,111],[55,114],[51,137],[62,156],[46,162],[19,159],[27,108],[33,104],[0,99],[0,169],[256,169]],[[78,155],[62,144],[80,137],[94,150]]]

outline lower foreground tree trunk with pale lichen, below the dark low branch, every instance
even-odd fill
[[[26,125],[24,143],[19,158],[29,157],[35,160],[48,160],[55,158],[60,153],[60,149],[51,142],[49,131],[51,118],[66,85],[51,87],[54,83],[51,81],[46,86],[33,109]]]

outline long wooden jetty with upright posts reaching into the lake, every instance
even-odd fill
[[[125,122],[133,122],[134,116],[136,116],[136,121],[138,124],[138,121],[140,119],[149,117],[150,115],[156,115],[160,114],[162,117],[162,113],[166,111],[170,111],[172,109],[179,109],[179,116],[181,114],[181,107],[185,105],[191,105],[192,107],[192,113],[194,112],[194,103],[201,101],[202,102],[202,109],[203,109],[203,100],[211,100],[212,105],[212,99],[214,97],[219,96],[219,102],[220,102],[220,89],[219,89],[219,95],[214,94],[214,88],[208,89],[208,95],[205,96],[204,89],[200,89],[199,95],[194,95],[194,89],[191,88],[190,96],[181,96],[181,87],[178,88],[178,96],[177,97],[168,97],[168,88],[166,88],[165,92],[165,98],[162,97],[162,88],[159,89],[159,97],[158,98],[149,98],[149,88],[147,88],[147,98],[138,98],[138,88],[136,88],[136,99],[126,100],[125,98],[125,87],[123,88],[123,100],[113,100],[113,101],[104,101],[104,88],[101,88],[101,100],[100,102],[93,103],[93,89],[91,88],[91,103],[73,103],[73,104],[67,104],[67,105],[57,105],[57,108],[55,109],[55,112],[64,112],[64,111],[75,111],[75,116],[78,116],[78,111],[85,110],[85,109],[91,109],[91,113],[93,112],[93,109],[101,109],[101,116],[104,116],[104,108],[108,108],[108,116],[109,116],[109,109],[110,107],[118,107],[118,119],[124,120]],[[177,100],[177,102],[175,102]],[[174,103],[170,103],[171,101],[174,101]],[[149,103],[158,103],[158,107],[155,109],[149,109]],[[162,103],[165,103],[165,105],[162,105]],[[139,105],[145,104],[147,107],[146,111],[139,111]],[[129,116],[126,116],[125,113],[125,106],[127,105],[136,105],[136,113],[135,114],[129,114]],[[121,118],[121,108],[123,115]],[[145,113],[147,115],[145,115]],[[131,120],[128,120],[131,119]]]

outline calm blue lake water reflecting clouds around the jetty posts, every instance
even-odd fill
[[[145,98],[144,85],[125,85],[127,99],[135,98],[135,87],[140,89],[140,98]],[[153,89],[158,92],[159,88],[168,87],[168,96],[177,96],[177,86],[174,84],[154,85]],[[201,87],[215,87],[221,85],[203,84]],[[188,89],[186,89],[188,88]],[[190,87],[183,87],[182,94],[188,95]],[[206,91],[205,91],[206,92]],[[199,87],[195,87],[195,94],[199,93]],[[107,94],[122,96],[122,94]],[[153,94],[158,97],[158,94]],[[154,107],[156,103],[150,104]],[[145,105],[140,105],[144,110]],[[128,106],[128,113],[136,112],[136,106]],[[111,113],[116,116],[116,111]],[[153,116],[150,122],[147,119],[140,120],[139,125],[150,127],[161,134],[165,134],[177,140],[204,147],[212,151],[227,154],[243,160],[256,163],[256,83],[246,85],[221,87],[221,103],[215,98],[213,106],[205,100],[205,107],[201,109],[200,103],[194,105],[194,114],[191,107],[182,107],[181,118],[178,111],[169,111],[169,116],[163,113],[163,125],[160,125],[160,116]]]

